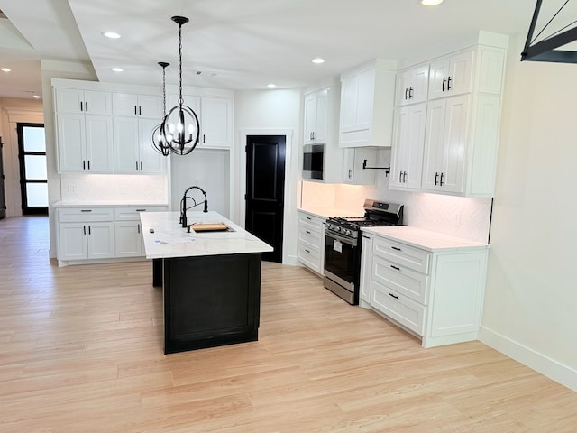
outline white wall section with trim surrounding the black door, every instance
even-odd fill
[[[302,144],[302,94],[300,89],[237,92],[234,97],[234,214],[232,219],[244,226],[243,201],[245,153],[243,134],[292,133],[287,146],[285,169],[285,214],[283,263],[297,263],[298,157]]]

